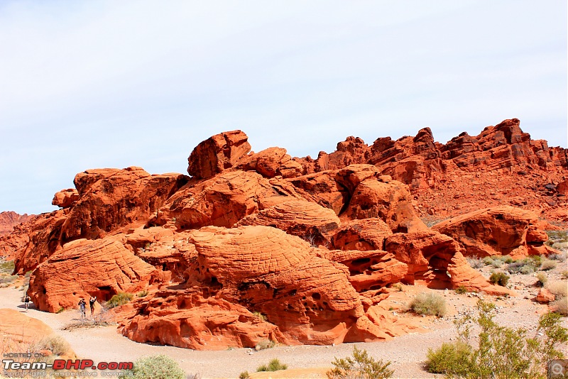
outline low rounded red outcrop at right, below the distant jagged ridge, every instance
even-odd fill
[[[480,209],[432,227],[454,238],[466,256],[509,255],[515,259],[551,253],[536,214],[514,207]]]

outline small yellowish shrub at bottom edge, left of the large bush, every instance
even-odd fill
[[[392,378],[394,373],[388,368],[390,361],[375,361],[366,350],[359,350],[357,346],[353,346],[353,358],[335,358],[332,365],[334,368],[326,373],[328,379],[383,379]]]

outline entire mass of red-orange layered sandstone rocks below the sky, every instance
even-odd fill
[[[1,237],[0,255],[15,259],[16,273],[33,270],[28,293],[48,312],[143,291],[114,311],[121,333],[139,342],[389,339],[414,330],[381,304],[391,285],[510,293],[464,256],[548,252],[542,212],[487,209],[429,229],[421,216],[446,214],[422,202],[480,172],[527,177],[518,170],[532,167],[565,181],[565,151],[530,140],[514,119],[454,140],[436,143],[428,128],[373,145],[350,137],[312,160],[283,148],[251,153],[245,133],[221,133],[192,150],[190,177],[140,167],[77,174],[75,189],[55,194],[61,209]],[[545,187],[559,209],[562,186]]]

